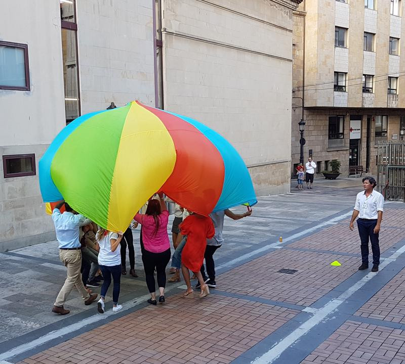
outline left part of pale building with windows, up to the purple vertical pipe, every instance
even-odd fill
[[[152,5],[21,0],[0,12],[0,252],[55,239],[38,161],[66,123],[111,102],[155,105]]]

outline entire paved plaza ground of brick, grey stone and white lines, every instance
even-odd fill
[[[218,286],[204,299],[183,298],[180,283],[148,306],[143,277],[123,277],[122,312],[107,304],[100,315],[72,295],[72,314],[56,316],[55,243],[1,254],[0,363],[405,364],[405,206],[386,204],[380,271],[358,271],[348,230],[358,181],[302,192],[292,181],[293,194],[260,198],[254,217],[227,219]]]

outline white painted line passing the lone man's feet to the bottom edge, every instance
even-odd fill
[[[385,259],[379,266],[380,270],[384,269],[388,264],[395,261],[403,252],[405,252],[405,244],[402,245],[395,253],[391,254],[388,259]],[[251,361],[251,364],[271,364],[277,359],[282,352],[293,345],[302,336],[308,333],[314,326],[318,325],[329,314],[335,311],[346,299],[358,291],[367,282],[377,276],[377,273],[370,272],[361,280],[356,282],[353,286],[347,289],[336,299],[329,301],[325,306],[319,308],[310,319],[304,322],[300,327],[295,329],[291,334],[287,335],[284,339],[275,343],[273,347],[261,356]]]

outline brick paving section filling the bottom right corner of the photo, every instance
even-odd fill
[[[346,321],[301,364],[404,364],[405,330]]]

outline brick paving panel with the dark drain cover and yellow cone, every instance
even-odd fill
[[[334,260],[342,265],[331,266]],[[217,288],[308,306],[354,274],[357,266],[356,257],[280,249],[222,274]],[[278,273],[282,268],[298,271],[293,275]]]

